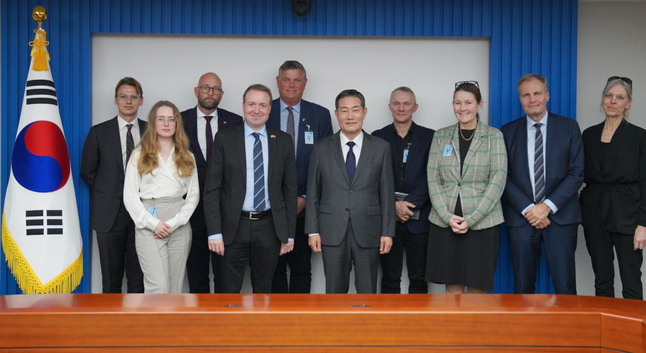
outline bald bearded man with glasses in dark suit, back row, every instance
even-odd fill
[[[224,90],[222,81],[213,72],[207,72],[200,77],[198,85],[194,88],[198,105],[182,112],[184,130],[191,141],[190,150],[195,157],[200,181],[200,203],[191,216],[193,241],[189,259],[186,261],[186,272],[189,277],[189,290],[191,293],[209,293],[209,241],[207,239],[206,223],[204,221],[204,176],[216,132],[242,124],[242,117],[238,114],[218,108]],[[220,293],[220,263],[218,257],[211,257],[213,268],[213,289]]]

